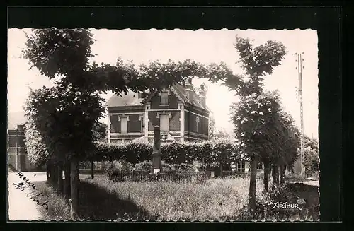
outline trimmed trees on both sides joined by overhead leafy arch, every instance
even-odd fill
[[[271,74],[286,54],[281,43],[268,41],[253,48],[249,40],[236,37],[235,47],[245,70],[243,76],[234,74],[224,63],[204,65],[190,60],[170,60],[165,64],[152,61],[135,67],[118,59],[114,66],[90,65],[93,42],[89,30],[48,28],[33,30],[23,50],[30,66],[55,79],[55,87],[32,91],[28,98],[28,155],[35,164],[57,164],[58,170],[53,172],[60,174],[64,167],[65,179],[70,179],[72,218],[78,216],[78,162],[94,155],[93,127],[104,112],[99,94],[107,90],[118,95],[127,90],[144,92],[183,83],[190,77],[206,78],[212,83],[221,81],[234,90],[241,98],[232,107],[235,136],[240,141],[241,153],[251,160],[251,209],[256,204],[258,161],[266,164],[267,171],[271,165],[273,177],[278,179],[294,160],[297,130],[289,115],[280,109],[278,95],[263,90],[263,76]],[[38,146],[45,151],[36,151]]]

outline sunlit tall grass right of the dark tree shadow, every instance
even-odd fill
[[[183,182],[115,182],[91,179],[120,199],[132,200],[137,206],[160,220],[222,220],[235,217],[246,203],[247,179],[211,179],[206,185]],[[261,181],[257,182],[261,194]]]

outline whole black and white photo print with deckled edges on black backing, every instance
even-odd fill
[[[8,220],[319,220],[316,30],[8,28]]]

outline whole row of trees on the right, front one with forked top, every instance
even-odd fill
[[[285,168],[297,158],[299,131],[290,114],[282,109],[279,93],[265,90],[263,83],[265,76],[271,75],[287,54],[285,46],[268,40],[254,47],[249,39],[236,37],[234,47],[244,74],[220,79],[239,95],[239,102],[230,110],[239,150],[250,159],[249,208],[254,211],[258,162],[261,160],[265,166],[265,191],[268,191],[270,173],[275,185],[283,184]]]

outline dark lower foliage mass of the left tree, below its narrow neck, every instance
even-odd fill
[[[98,95],[72,92],[69,88],[31,91],[25,112],[32,124],[27,129],[36,129],[42,136],[50,158],[83,158],[93,148],[92,124],[103,114],[100,105]]]

